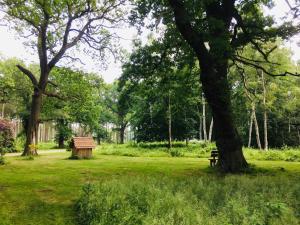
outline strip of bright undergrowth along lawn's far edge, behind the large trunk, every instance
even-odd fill
[[[176,142],[170,150],[165,143],[128,143],[123,145],[102,144],[97,150],[102,155],[120,155],[132,157],[193,157],[208,158],[211,150],[215,149],[214,143],[190,143]],[[244,148],[244,155],[248,160],[270,160],[300,162],[299,148],[270,149],[268,151]]]

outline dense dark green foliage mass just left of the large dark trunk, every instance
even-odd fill
[[[129,123],[139,142],[167,140],[169,119],[172,139],[199,137],[199,68],[193,58],[177,54],[159,41],[137,44],[123,66],[119,87],[126,92]]]

